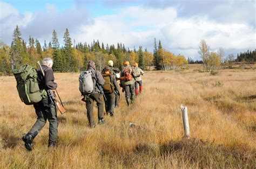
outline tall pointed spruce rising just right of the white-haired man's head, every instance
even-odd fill
[[[52,52],[52,57],[54,64],[52,66],[53,71],[56,72],[63,72],[63,58],[59,50],[59,41],[58,41],[58,36],[55,30],[53,30],[52,33],[52,44],[49,43],[49,47],[52,45],[53,52]]]

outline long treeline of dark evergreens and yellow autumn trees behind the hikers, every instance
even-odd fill
[[[37,61],[41,61],[45,57],[53,58],[53,71],[56,72],[80,72],[86,69],[87,61],[93,60],[96,63],[96,69],[102,70],[108,60],[113,60],[114,66],[122,68],[124,61],[130,61],[133,65],[135,62],[139,67],[150,69],[155,67],[157,70],[177,69],[187,64],[187,60],[183,55],[175,56],[173,53],[166,51],[161,46],[161,42],[157,45],[154,39],[154,53],[143,51],[143,47],[139,46],[137,51],[126,48],[123,43],[117,45],[109,45],[100,43],[99,40],[91,44],[72,43],[69,30],[66,29],[63,36],[63,46],[60,47],[58,35],[55,30],[52,32],[52,39],[49,43],[44,40],[43,47],[38,39],[29,37],[29,43],[22,39],[22,33],[16,26],[13,34],[11,45],[8,46],[0,41],[0,74],[9,75],[12,71],[22,65],[29,64],[37,67]]]

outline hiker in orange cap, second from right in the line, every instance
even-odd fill
[[[135,100],[135,80],[132,77],[132,68],[129,61],[124,62],[124,68],[118,80],[120,80],[120,86],[123,88],[122,91],[125,91],[126,103],[130,106],[130,101],[133,103]]]

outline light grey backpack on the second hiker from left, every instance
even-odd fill
[[[91,94],[93,91],[92,71],[83,71],[79,76],[79,90],[82,95]]]

